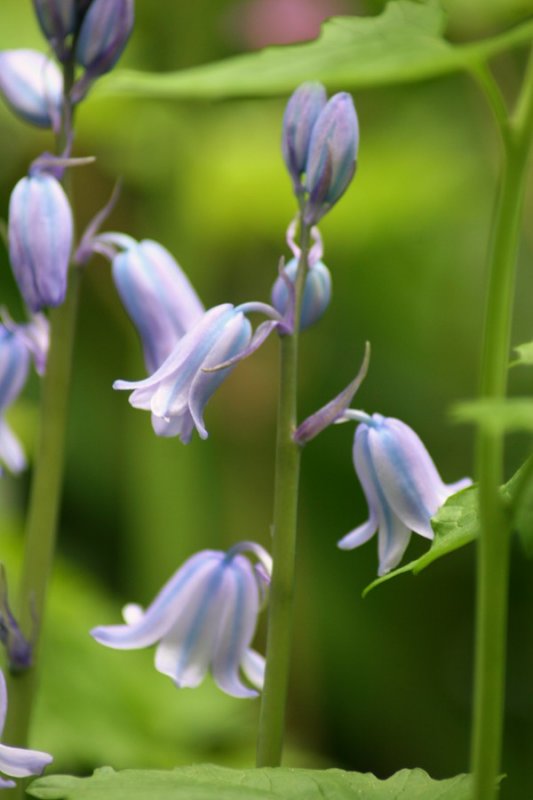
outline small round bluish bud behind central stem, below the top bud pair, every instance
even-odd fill
[[[272,305],[285,316],[290,302],[287,280],[294,284],[298,272],[298,260],[293,258],[283,270],[285,279],[279,275],[272,287]],[[331,300],[331,275],[322,261],[317,261],[307,270],[302,296],[300,329],[309,328],[325,312]]]

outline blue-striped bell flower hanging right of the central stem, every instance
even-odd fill
[[[378,575],[396,567],[411,531],[433,539],[431,517],[470,478],[443,483],[431,456],[417,434],[403,422],[381,414],[346,411],[343,419],[355,419],[358,426],[353,459],[355,471],[366,495],[368,520],[339,542],[352,550],[378,532]]]

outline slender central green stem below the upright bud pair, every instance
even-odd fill
[[[292,605],[300,475],[300,447],[296,429],[298,338],[302,294],[310,246],[310,229],[302,223],[301,254],[295,282],[294,331],[280,340],[280,384],[274,486],[273,572],[270,588],[267,658],[257,766],[281,763],[292,638]]]

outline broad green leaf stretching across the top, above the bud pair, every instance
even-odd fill
[[[316,41],[268,47],[180,72],[113,72],[98,87],[107,93],[167,98],[277,95],[302,81],[354,89],[418,81],[475,67],[528,42],[533,20],[466,45],[447,42],[445,15],[435,0],[392,0],[375,17],[334,17]]]

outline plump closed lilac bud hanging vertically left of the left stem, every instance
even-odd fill
[[[9,253],[31,311],[61,305],[72,249],[72,212],[59,181],[46,173],[22,178],[9,201]]]

